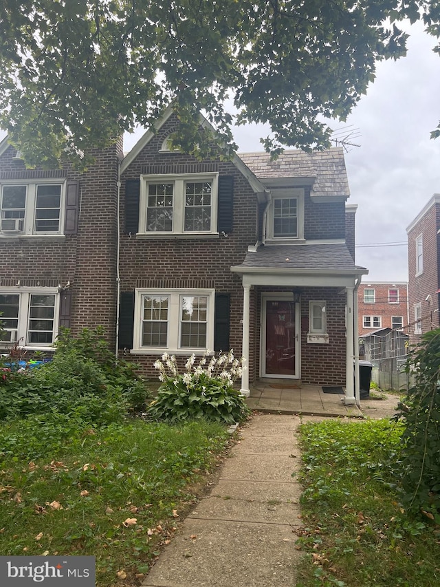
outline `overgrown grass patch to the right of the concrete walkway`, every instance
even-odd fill
[[[440,585],[440,529],[396,490],[401,426],[329,420],[300,428],[307,551],[298,587]]]

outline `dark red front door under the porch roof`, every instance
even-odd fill
[[[265,372],[263,376],[296,376],[295,303],[265,300]]]

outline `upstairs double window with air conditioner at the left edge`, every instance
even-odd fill
[[[1,186],[2,235],[61,234],[63,184],[28,183]]]

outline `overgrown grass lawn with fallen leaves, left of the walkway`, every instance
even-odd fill
[[[2,423],[0,554],[94,555],[98,587],[140,584],[228,438],[203,420]]]

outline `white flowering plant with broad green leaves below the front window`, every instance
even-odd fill
[[[233,350],[219,356],[207,351],[197,364],[192,354],[183,373],[175,356],[168,353],[154,366],[162,384],[146,411],[149,418],[170,423],[205,418],[228,425],[248,418],[245,397],[234,389],[243,372],[243,359],[236,359]]]

